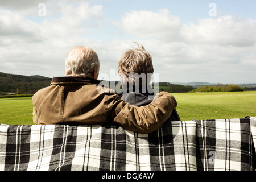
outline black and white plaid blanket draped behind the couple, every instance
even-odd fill
[[[117,125],[0,125],[0,170],[255,170],[256,117]]]

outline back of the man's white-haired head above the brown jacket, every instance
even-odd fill
[[[94,70],[100,71],[100,60],[93,49],[77,46],[73,48],[65,61],[65,76],[92,77]]]

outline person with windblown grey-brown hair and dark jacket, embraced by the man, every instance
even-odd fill
[[[135,106],[145,106],[155,96],[150,84],[154,72],[152,56],[143,46],[125,51],[118,62],[118,73],[122,82],[122,92],[118,96]],[[180,121],[176,109],[168,119]]]

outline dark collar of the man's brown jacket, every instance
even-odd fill
[[[85,77],[53,77],[51,85],[57,84],[100,84],[100,81],[95,80],[93,78],[85,78]]]

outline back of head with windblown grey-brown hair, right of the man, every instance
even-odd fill
[[[125,51],[118,62],[118,73],[122,84],[138,83],[139,79],[149,84],[154,68],[152,56],[143,46]],[[141,85],[141,80],[139,85]],[[143,81],[142,81],[143,82]]]

